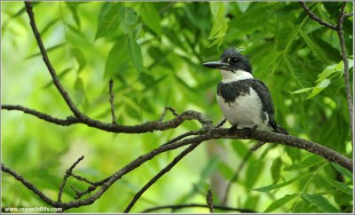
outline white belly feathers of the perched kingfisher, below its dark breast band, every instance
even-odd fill
[[[233,103],[227,103],[217,95],[217,102],[229,123],[238,125],[238,128],[251,128],[257,126],[257,130],[272,131],[268,126],[269,116],[266,114],[264,122],[261,120],[262,103],[257,93],[250,88],[250,94],[237,98]]]

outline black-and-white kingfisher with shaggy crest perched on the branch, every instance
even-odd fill
[[[273,117],[272,97],[266,85],[252,76],[246,56],[234,47],[222,53],[219,61],[202,64],[222,75],[217,85],[217,102],[233,128],[250,128],[288,134]]]

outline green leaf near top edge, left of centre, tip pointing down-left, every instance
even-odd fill
[[[121,4],[114,4],[104,15],[102,20],[99,20],[99,26],[96,30],[95,39],[106,36],[108,32],[113,32],[120,25],[120,9]]]

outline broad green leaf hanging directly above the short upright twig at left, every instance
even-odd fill
[[[104,78],[111,78],[119,73],[126,73],[130,70],[129,61],[128,38],[123,37],[117,40],[117,43],[114,44],[114,47],[108,53]]]

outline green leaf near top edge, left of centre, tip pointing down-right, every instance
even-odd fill
[[[162,36],[161,17],[156,11],[154,4],[141,3],[139,12],[146,26],[158,36]]]

